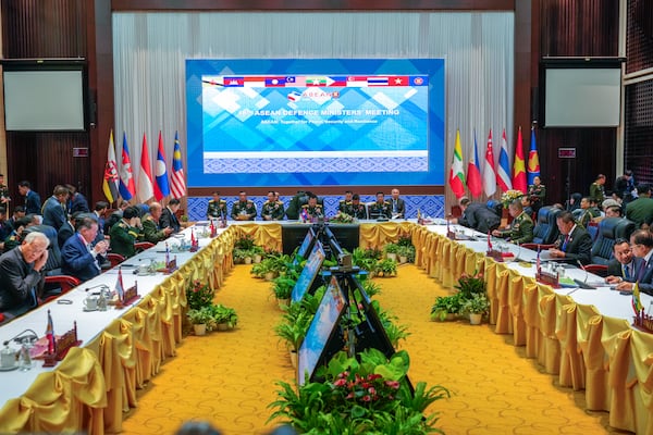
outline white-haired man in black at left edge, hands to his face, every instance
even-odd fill
[[[21,246],[0,257],[0,312],[21,315],[38,304],[49,244],[42,233],[29,233]]]

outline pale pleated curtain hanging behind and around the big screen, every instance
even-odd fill
[[[475,129],[481,169],[490,128],[495,159],[505,128],[513,160],[513,12],[120,12],[112,23],[116,146],[126,132],[135,179],[144,134],[153,161],[162,130],[169,166],[175,130],[185,142],[186,59],[444,58],[445,184],[456,129],[465,169]]]

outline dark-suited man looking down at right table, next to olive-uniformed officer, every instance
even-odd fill
[[[574,215],[568,211],[558,214],[556,223],[560,235],[555,243],[556,247],[549,250],[551,257],[567,263],[580,261],[589,264],[592,258],[592,236],[576,224]]]

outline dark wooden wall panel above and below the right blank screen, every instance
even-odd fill
[[[539,57],[618,55],[618,1],[540,0],[538,13]],[[534,83],[541,79],[538,76]],[[578,157],[571,162],[570,191],[586,195],[599,173],[607,176],[606,189],[612,188],[616,146],[616,128],[539,128],[540,167],[547,186],[547,200],[559,202],[566,195],[567,162],[558,159],[558,148],[577,148]]]

